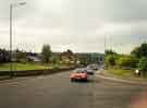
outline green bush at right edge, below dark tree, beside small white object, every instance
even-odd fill
[[[147,58],[145,58],[145,57],[140,58],[138,68],[140,71],[143,71],[144,74],[145,74],[145,72],[147,72]]]

